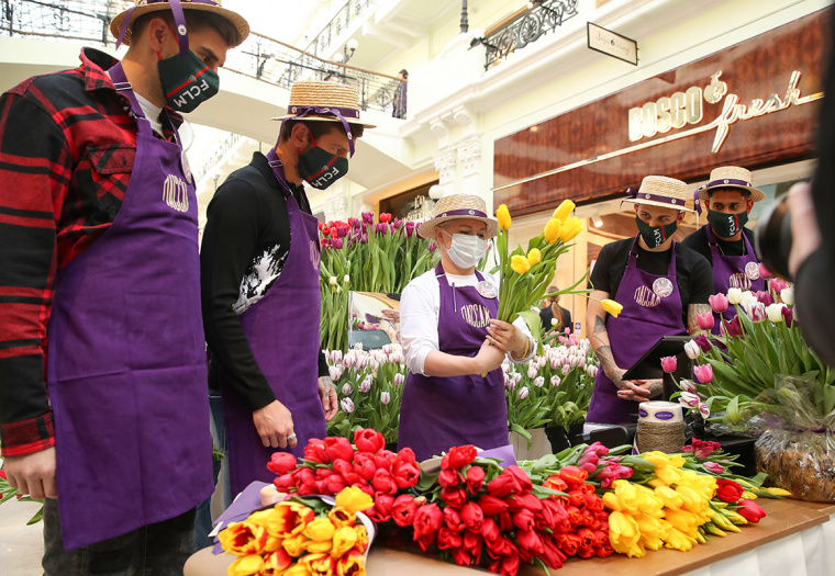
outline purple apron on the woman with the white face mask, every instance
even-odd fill
[[[482,296],[476,286],[450,286],[441,264],[438,348],[454,355],[475,357],[487,337],[499,300]],[[476,271],[479,281],[485,276]],[[501,369],[479,374],[436,377],[409,374],[400,408],[398,449],[411,448],[417,461],[452,447],[475,444],[489,450],[508,443],[508,404]]]

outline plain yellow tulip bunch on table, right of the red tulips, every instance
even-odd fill
[[[609,538],[616,552],[639,557],[661,546],[688,551],[704,542],[700,527],[715,516],[711,498],[716,490],[712,476],[682,470],[681,455],[647,452],[644,460],[655,465],[649,486],[617,479],[603,495],[611,510]]]

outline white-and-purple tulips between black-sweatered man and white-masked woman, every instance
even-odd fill
[[[325,357],[339,402],[339,411],[327,422],[327,433],[350,438],[361,428],[372,428],[382,433],[386,443],[396,443],[407,377],[402,347],[364,350],[357,345],[345,353],[330,350]]]

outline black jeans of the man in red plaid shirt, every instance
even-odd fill
[[[73,551],[64,550],[58,501],[44,500],[44,575],[182,576],[193,552],[194,510]]]

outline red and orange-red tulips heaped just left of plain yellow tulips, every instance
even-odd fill
[[[477,458],[472,445],[455,447],[431,485],[422,483],[425,497],[398,497],[394,506],[404,512],[393,520],[412,527],[424,552],[497,574],[516,574],[523,562],[558,568],[571,555],[608,556],[609,515],[584,484],[586,473],[576,471],[549,478],[543,489],[519,466],[502,468]]]

